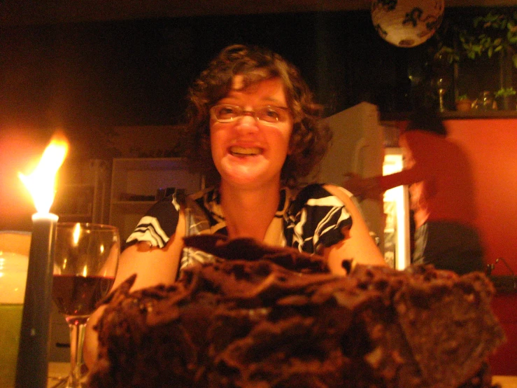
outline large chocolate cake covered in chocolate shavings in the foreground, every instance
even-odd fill
[[[481,272],[355,265],[187,237],[224,260],[104,301],[90,387],[490,387],[504,340]]]

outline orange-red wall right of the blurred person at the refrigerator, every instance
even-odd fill
[[[517,118],[444,123],[472,162],[486,262],[502,257],[517,272]],[[500,262],[493,274],[509,275],[509,270]]]

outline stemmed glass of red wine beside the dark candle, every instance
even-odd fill
[[[83,387],[86,322],[113,286],[119,255],[115,226],[57,223],[52,300],[70,328],[71,370],[66,388]]]

